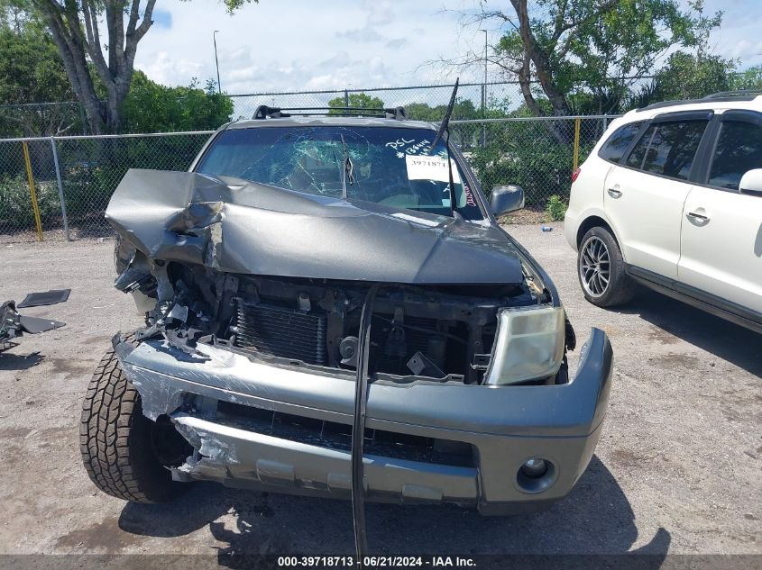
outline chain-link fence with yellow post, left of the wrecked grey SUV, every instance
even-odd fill
[[[129,168],[187,170],[209,134],[0,140],[0,242],[110,235],[104,213],[124,173]]]

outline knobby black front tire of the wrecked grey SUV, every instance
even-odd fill
[[[169,419],[142,415],[141,397],[124,375],[114,350],[106,352],[87,387],[79,424],[79,450],[96,487],[132,502],[168,502],[188,484],[172,481],[192,448]]]

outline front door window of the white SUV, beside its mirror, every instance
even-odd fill
[[[723,122],[709,184],[738,190],[741,176],[754,168],[762,168],[762,127],[749,122]]]

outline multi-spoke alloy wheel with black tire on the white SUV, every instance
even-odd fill
[[[590,303],[612,307],[628,303],[635,295],[635,282],[624,270],[617,240],[605,228],[595,227],[584,234],[577,254],[577,276]]]

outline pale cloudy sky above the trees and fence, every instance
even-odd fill
[[[681,0],[685,3],[686,0]],[[507,0],[493,2],[510,7]],[[135,65],[164,85],[216,77],[229,94],[479,81],[481,65],[458,73],[427,62],[482,53],[484,34],[458,10],[476,0],[260,0],[233,16],[216,0],[159,0]],[[712,36],[717,53],[762,64],[760,0],[706,0],[725,12]],[[492,24],[490,40],[500,37]],[[497,70],[490,70],[498,80]]]

